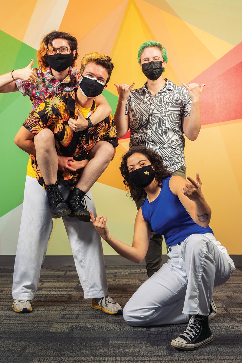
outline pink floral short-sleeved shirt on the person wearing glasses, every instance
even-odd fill
[[[18,90],[24,96],[28,95],[30,101],[33,103],[30,113],[46,99],[57,96],[63,92],[73,91],[78,86],[76,79],[77,69],[72,69],[70,67],[69,73],[62,82],[52,76],[50,67],[42,69],[33,68],[33,70],[37,74],[37,78],[33,81],[25,82],[21,79],[15,81]]]

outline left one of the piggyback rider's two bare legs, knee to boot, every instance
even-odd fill
[[[50,129],[43,129],[34,136],[36,159],[46,185],[55,184],[57,180],[58,156],[54,134]]]

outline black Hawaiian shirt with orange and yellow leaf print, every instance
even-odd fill
[[[118,136],[112,114],[88,130],[73,131],[68,125],[68,121],[69,118],[78,118],[77,108],[75,91],[63,93],[40,103],[23,123],[23,126],[33,134],[38,134],[42,129],[50,129],[55,136],[57,154],[72,156],[74,160],[87,159],[89,151],[99,140],[107,141],[113,147],[118,146]],[[95,101],[93,101],[88,116],[94,112],[94,109]],[[30,158],[36,179],[41,186],[44,186],[44,179],[38,168],[36,157],[30,155]],[[82,169],[75,172],[58,171],[57,181],[63,180],[64,185],[73,188],[81,173]]]

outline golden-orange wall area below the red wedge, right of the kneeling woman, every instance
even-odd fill
[[[237,143],[241,127],[242,123],[202,127],[198,139],[186,140],[185,147],[187,175],[195,178],[199,172],[202,191],[212,208],[210,227],[231,254],[242,254],[242,234],[238,228],[242,211],[238,160],[242,160],[242,148]]]

